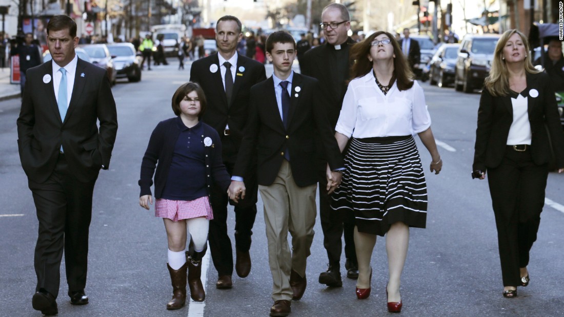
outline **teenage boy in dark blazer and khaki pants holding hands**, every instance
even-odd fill
[[[292,70],[296,57],[292,35],[284,31],[272,33],[266,51],[274,75],[251,88],[248,124],[228,191],[233,200],[239,195],[245,197],[242,180],[253,175],[250,162],[257,158],[273,280],[274,306],[270,315],[287,316],[290,301],[299,300],[307,284],[306,259],[316,215],[316,140],[321,141],[331,168],[327,172],[327,190],[340,183],[344,163],[319,97],[319,82]],[[292,252],[288,231],[292,235]]]

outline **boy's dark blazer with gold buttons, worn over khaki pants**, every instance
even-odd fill
[[[298,88],[299,91],[296,90]],[[319,101],[320,87],[315,78],[294,73],[288,130],[280,118],[274,79],[253,86],[250,91],[249,120],[233,175],[249,175],[253,155],[257,155],[259,185],[271,185],[280,171],[284,151],[289,149],[290,168],[300,187],[318,182],[315,141],[321,141],[325,159],[332,169],[344,166],[327,111]],[[255,154],[256,153],[256,154]]]

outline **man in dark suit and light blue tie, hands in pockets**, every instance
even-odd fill
[[[63,250],[70,303],[88,303],[84,288],[92,193],[100,169],[108,169],[117,132],[107,73],[78,59],[76,30],[66,15],[50,19],[52,61],[28,70],[17,119],[21,166],[39,220],[32,303],[45,315],[58,312]]]

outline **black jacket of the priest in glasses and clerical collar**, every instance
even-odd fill
[[[355,41],[349,38],[345,49],[347,51],[350,50],[350,47],[354,44]],[[352,61],[350,60],[350,55],[347,54],[347,56],[349,56],[349,61],[347,61],[349,67],[347,68],[347,74],[345,74],[345,81],[341,83],[342,89],[339,94],[334,90],[332,82],[332,62],[330,56],[334,53],[333,51],[334,48],[329,43],[312,48],[303,55],[299,69],[303,75],[318,79],[321,87],[319,98],[324,98],[325,111],[328,112],[329,123],[331,123],[331,126],[334,128],[337,125],[343,99],[345,98],[345,92],[347,91],[347,79],[349,78],[349,70]]]

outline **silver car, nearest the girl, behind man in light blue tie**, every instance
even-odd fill
[[[126,78],[130,82],[141,80],[141,68],[139,56],[136,55],[135,47],[131,43],[108,44],[109,53],[113,58],[113,66],[116,68],[117,78]]]

